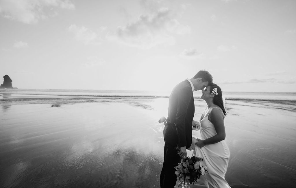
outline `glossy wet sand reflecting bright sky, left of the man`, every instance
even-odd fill
[[[124,103],[15,105],[1,119],[1,187],[157,187],[162,132],[146,111]]]

